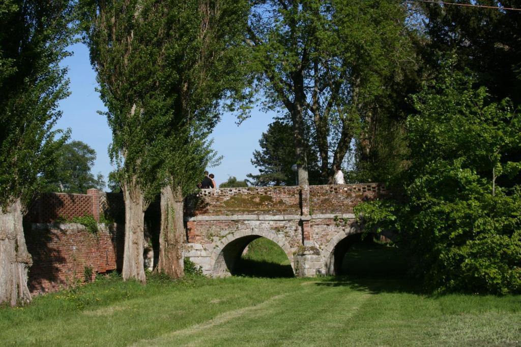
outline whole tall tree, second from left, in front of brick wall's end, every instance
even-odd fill
[[[171,119],[159,88],[165,56],[158,47],[165,33],[158,31],[163,18],[154,17],[155,6],[146,0],[84,0],[78,8],[108,109],[105,115],[113,133],[109,154],[118,165],[125,199],[122,277],[142,283],[144,212],[164,185],[159,176],[165,149],[160,132]]]

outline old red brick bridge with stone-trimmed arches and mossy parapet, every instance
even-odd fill
[[[251,241],[265,237],[296,276],[334,275],[348,236],[362,232],[353,207],[383,194],[380,184],[204,189],[187,202],[183,253],[205,275],[222,277]]]

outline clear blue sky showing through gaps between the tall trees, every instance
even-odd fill
[[[97,159],[92,169],[101,172],[107,179],[113,170],[107,154],[111,142],[111,132],[107,120],[97,111],[104,110],[100,95],[95,91],[96,76],[89,61],[89,51],[83,44],[70,47],[74,53],[64,59],[61,65],[69,68],[71,95],[60,102],[63,117],[58,120],[57,128],[70,128],[71,139],[80,140],[96,150]],[[252,112],[252,117],[240,126],[235,124],[232,114],[224,114],[212,134],[213,148],[224,158],[221,164],[208,171],[215,174],[217,184],[227,181],[228,176],[237,179],[246,178],[247,173],[258,173],[250,160],[255,149],[259,149],[258,140],[273,121],[274,113],[266,114],[259,110]]]

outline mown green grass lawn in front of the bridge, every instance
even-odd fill
[[[253,252],[244,258],[266,262]],[[344,265],[364,252],[375,253],[361,247]],[[109,278],[0,309],[0,344],[521,345],[520,295],[426,295],[383,276],[384,264],[370,267],[378,271],[315,279]]]

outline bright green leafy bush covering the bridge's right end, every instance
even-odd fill
[[[449,61],[413,97],[404,197],[356,213],[370,228],[396,230],[432,289],[521,292],[521,189],[497,184],[518,172],[507,153],[521,147],[521,117],[472,86]]]

